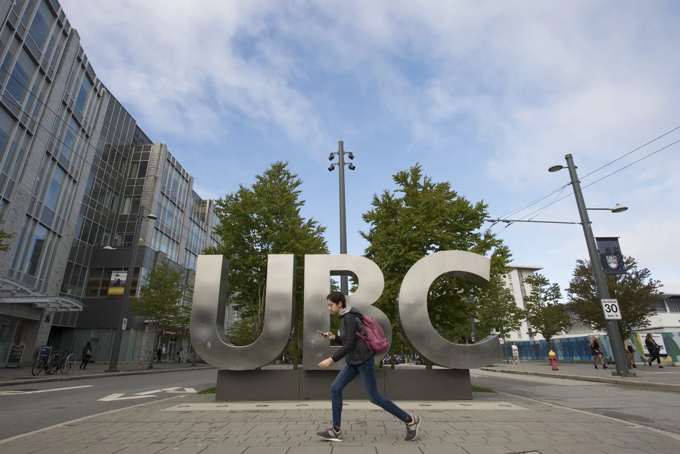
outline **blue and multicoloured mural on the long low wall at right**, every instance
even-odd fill
[[[649,359],[643,346],[646,334],[647,331],[632,334],[636,362],[645,362]],[[609,336],[607,336],[607,334],[600,334],[598,338],[605,359],[607,359],[607,361],[613,361],[614,357],[611,354]],[[654,340],[656,340],[658,344],[661,344],[661,340],[663,341],[666,355],[664,355],[664,350],[662,350],[662,363],[680,362],[680,333],[654,333]],[[547,342],[543,339],[515,341],[515,343],[517,344],[517,348],[520,349],[520,360],[547,359],[548,352],[550,351]],[[552,339],[550,344],[557,355],[558,361],[592,361],[592,355],[590,353],[590,336]],[[503,350],[503,359],[506,359],[505,346],[502,346],[501,349]]]

